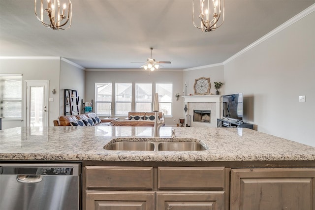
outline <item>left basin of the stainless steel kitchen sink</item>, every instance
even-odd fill
[[[105,150],[146,150],[153,151],[155,149],[152,142],[114,142],[104,146]]]

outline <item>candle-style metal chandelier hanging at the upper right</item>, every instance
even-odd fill
[[[200,14],[198,16],[201,20],[200,27],[194,22],[193,1],[194,0],[192,0],[192,23],[196,28],[209,32],[216,30],[222,25],[224,21],[224,0],[200,0]],[[212,20],[210,20],[210,18],[212,18]]]

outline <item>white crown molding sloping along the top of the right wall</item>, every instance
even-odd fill
[[[228,58],[227,60],[223,61],[223,65],[225,65],[226,63],[230,62],[231,60],[236,59],[237,57],[239,57],[240,55],[242,55],[243,53],[249,51],[250,49],[252,49],[253,47],[257,46],[258,44],[262,43],[263,41],[269,39],[270,37],[274,36],[275,34],[279,33],[280,31],[286,29],[287,27],[291,26],[292,24],[294,24],[295,22],[301,20],[302,18],[304,18],[305,16],[311,14],[312,12],[315,11],[315,3],[312,4],[311,6],[309,6],[308,8],[306,8],[305,10],[303,10],[302,12],[300,12],[299,14],[295,15],[293,18],[289,19],[288,21],[284,22],[282,25],[280,25],[279,27],[277,27],[276,29],[270,31],[269,33],[267,33],[266,35],[262,36],[261,38],[257,39],[256,41],[254,41],[252,44],[250,44],[249,46],[247,46],[246,48],[244,48],[243,50],[241,50],[240,52],[236,53],[235,55],[231,56],[230,58]]]

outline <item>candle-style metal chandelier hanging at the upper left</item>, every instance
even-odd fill
[[[37,7],[37,0],[35,0],[34,10],[37,19],[45,27],[51,28],[52,30],[69,29],[72,19],[72,3],[70,0],[65,1],[67,1],[67,3],[63,3],[63,7],[61,8],[60,0],[40,0],[40,7]],[[40,13],[38,13],[40,16],[37,15],[37,11],[40,11]],[[47,14],[45,18],[44,13]]]

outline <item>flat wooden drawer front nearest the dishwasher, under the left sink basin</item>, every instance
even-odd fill
[[[152,167],[86,166],[86,188],[153,189]]]

